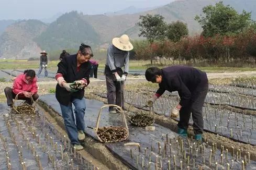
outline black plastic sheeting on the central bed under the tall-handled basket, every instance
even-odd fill
[[[40,100],[43,103],[48,104],[55,112],[60,113],[60,107],[57,107],[58,103],[57,100],[55,99],[55,96],[52,94],[48,95],[43,95],[40,96]],[[102,102],[98,102],[95,100],[86,100],[86,111],[85,111],[85,122],[87,127],[95,127],[96,126],[96,119],[98,116],[98,111],[99,109],[104,105]],[[107,111],[107,108],[103,110],[102,112],[102,117],[101,117],[101,123],[100,126],[109,126],[109,125],[120,125],[121,124],[121,117],[120,115],[117,114],[109,114]],[[131,126],[128,123],[129,126],[129,132],[130,135],[128,139],[124,142],[116,142],[116,143],[105,143],[105,146],[112,152],[118,159],[120,159],[122,162],[124,162],[127,166],[129,166],[131,169],[155,169],[154,167],[154,162],[156,161],[157,155],[159,156],[160,160],[162,161],[162,167],[163,169],[168,168],[168,160],[171,160],[171,169],[175,169],[173,165],[173,155],[176,155],[176,168],[180,169],[180,160],[183,157],[182,153],[178,153],[180,150],[180,147],[176,145],[176,133],[172,132],[168,128],[164,128],[160,125],[154,124],[155,126],[155,131],[145,131],[144,128],[141,127],[135,127]],[[97,140],[97,137],[93,131],[92,128],[86,128],[86,133],[87,135],[90,135],[94,139]],[[166,134],[168,134],[168,141],[166,142]],[[170,145],[172,148],[172,153],[170,153]],[[124,144],[127,142],[139,142],[140,143],[140,152],[138,147],[124,147]],[[159,143],[158,143],[159,142]],[[164,143],[166,144],[166,150],[165,150],[165,156],[163,155],[162,150],[164,148]],[[193,143],[193,141],[191,141]],[[160,144],[161,146],[161,153],[159,153],[159,147],[158,145]],[[199,146],[199,145],[198,145]],[[202,146],[202,145],[201,145]],[[146,148],[146,153],[145,149]],[[151,152],[151,148],[153,148],[153,151]],[[198,149],[198,148],[197,148]],[[208,147],[205,149],[204,153],[199,153],[198,151],[198,156],[196,156],[195,152],[193,154],[190,154],[190,146],[187,144],[186,140],[184,140],[184,150],[186,150],[187,155],[190,155],[190,168],[191,169],[198,169],[198,165],[202,165],[202,160],[204,156],[205,162],[208,161],[208,155],[209,155],[209,150],[212,149],[211,147]],[[132,157],[130,156],[130,150],[132,150]],[[198,149],[199,150],[199,149]],[[151,155],[151,156],[150,156]],[[214,155],[214,162],[220,162],[220,151],[217,150],[215,155]],[[228,162],[230,163],[233,157],[229,155]],[[148,167],[149,165],[149,156],[151,159],[151,166]],[[169,157],[170,156],[170,157]],[[137,162],[137,157],[138,157],[138,164]],[[142,157],[143,157],[143,162],[144,162],[144,167],[142,167]],[[192,167],[192,160],[195,160],[195,167]],[[187,164],[185,163],[185,160],[183,161],[183,167],[186,167]],[[241,160],[235,161],[233,164],[233,169],[241,169]],[[206,165],[207,163],[203,164],[204,169],[210,169],[213,168],[209,167]],[[226,164],[225,164],[226,165]],[[253,169],[253,167],[256,166],[256,163],[254,161],[251,161],[251,164],[247,165],[247,169]],[[225,167],[225,166],[224,166]]]

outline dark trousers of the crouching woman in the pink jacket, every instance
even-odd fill
[[[16,94],[13,92],[13,89],[9,88],[9,87],[6,87],[4,89],[4,93],[5,93],[5,96],[6,96],[6,99],[7,99],[7,105],[8,106],[13,105],[13,99],[15,99],[15,96],[16,96]],[[37,93],[33,94],[32,98],[33,98],[34,101],[36,101],[39,98],[39,95]],[[25,100],[26,103],[28,103],[30,105],[32,104],[31,99],[26,98],[25,96],[18,96],[18,100]]]

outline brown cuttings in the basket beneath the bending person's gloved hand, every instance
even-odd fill
[[[130,123],[135,126],[150,126],[154,123],[154,117],[144,113],[137,113],[131,116]]]

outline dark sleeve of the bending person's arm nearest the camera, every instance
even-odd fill
[[[179,96],[181,98],[180,105],[181,106],[186,106],[188,105],[191,101],[191,92],[188,90],[186,85],[183,83],[182,79],[180,76],[177,76],[174,81],[171,82],[172,86],[176,87]]]

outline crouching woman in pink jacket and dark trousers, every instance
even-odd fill
[[[14,80],[13,89],[10,87],[4,89],[8,106],[13,107],[13,99],[19,92],[21,93],[18,95],[18,100],[25,100],[26,103],[31,105],[30,97],[32,96],[34,101],[39,97],[37,90],[36,72],[34,70],[25,70],[24,74],[17,76]]]

